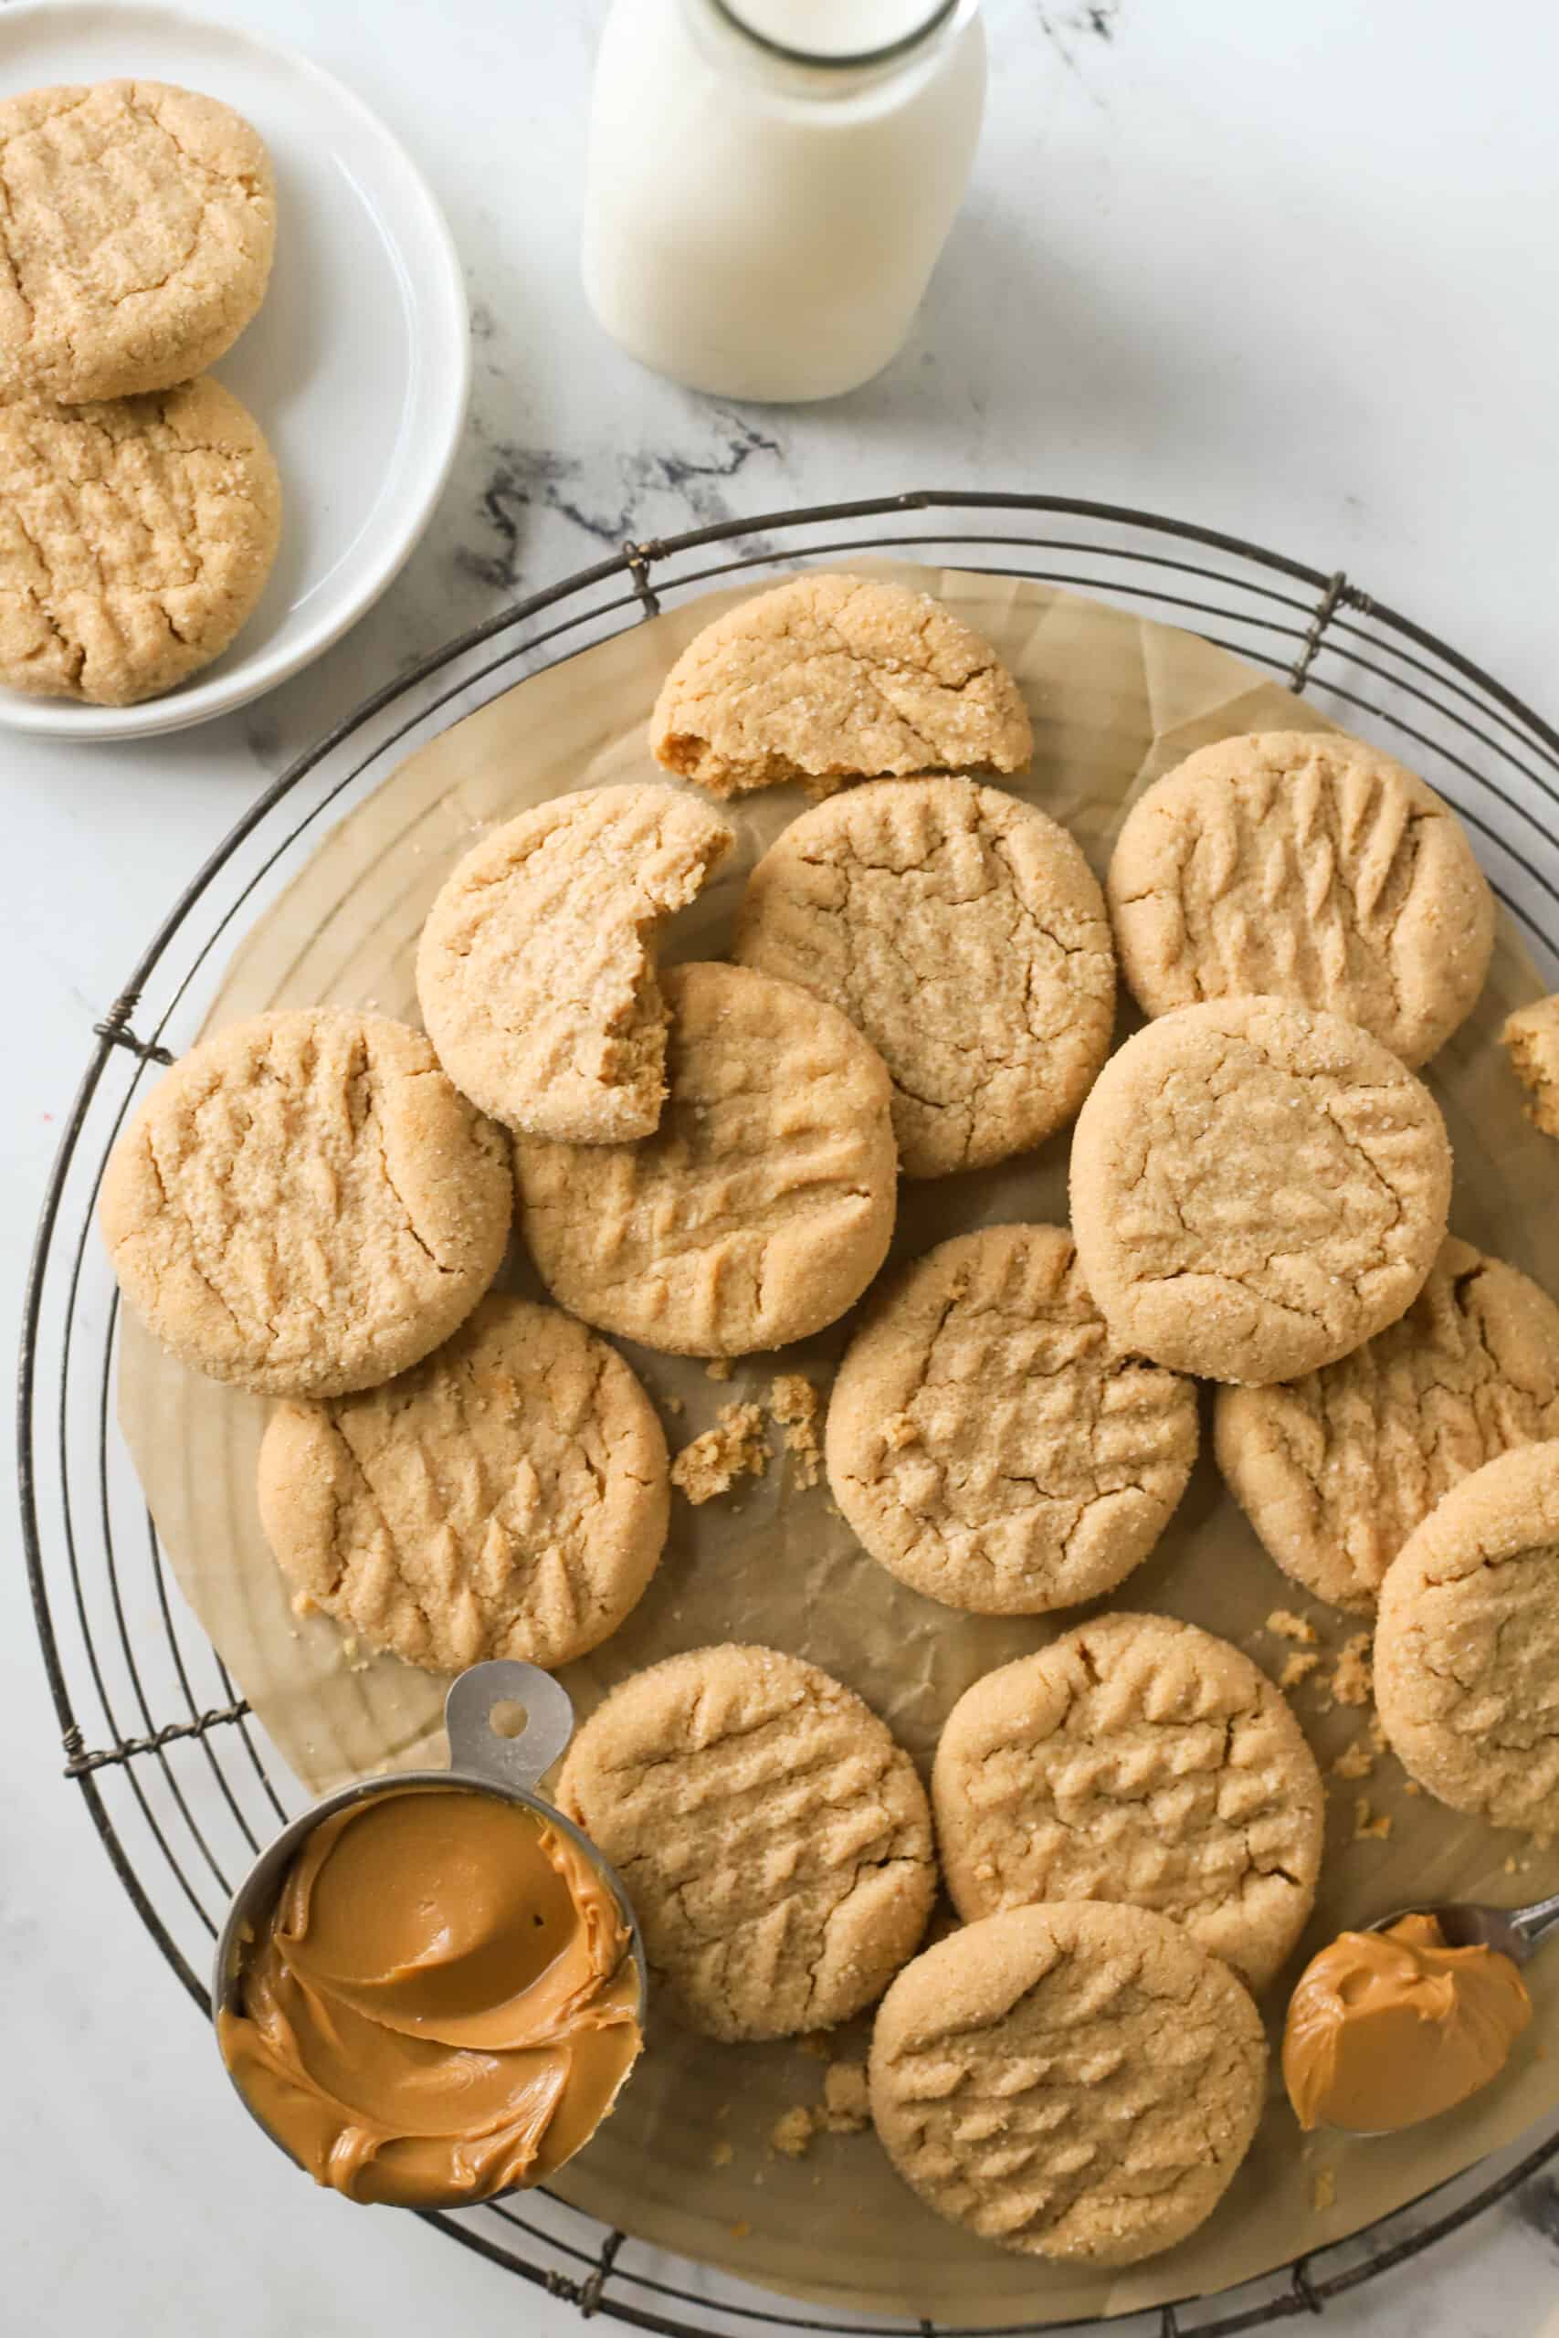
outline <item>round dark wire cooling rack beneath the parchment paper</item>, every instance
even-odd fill
[[[152,935],[96,1024],[37,1227],[19,1377],[21,1527],[65,1777],[143,1922],[201,2011],[236,1877],[299,1793],[187,1613],[112,1426],[117,1291],[93,1206],[108,1150],[147,1080],[194,1038],[224,942],[297,872],[332,816],[393,760],[526,673],[657,615],[701,584],[851,552],[1038,577],[1192,627],[1395,748],[1473,828],[1494,886],[1559,980],[1559,732],[1470,659],[1346,575],[1150,512],[1061,496],[912,493],[769,512],[624,545],[531,594],[386,685],[238,821]],[[1515,2193],[1559,2156],[1559,2130],[1440,2186],[1384,2226],[1264,2282],[1129,2326],[1232,2338],[1318,2315]],[[757,2331],[940,2338],[930,2322],[788,2310],[706,2268],[605,2230],[547,2193],[430,2219],[582,2315],[668,2338]],[[1066,2324],[1080,2329],[1082,2324]],[[1101,2329],[1103,2324],[1087,2324]],[[1124,2338],[1124,2324],[1110,2324]],[[1019,2338],[1054,2324],[1012,2324]]]

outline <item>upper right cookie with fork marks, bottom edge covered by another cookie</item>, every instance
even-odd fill
[[[1423,1064],[1477,1003],[1494,895],[1433,788],[1360,739],[1220,739],[1155,781],[1110,860],[1148,1015],[1264,991]]]

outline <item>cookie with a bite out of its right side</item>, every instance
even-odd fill
[[[470,851],[416,954],[428,1036],[472,1104],[531,1136],[647,1136],[666,1094],[654,935],[732,849],[675,788],[584,788]]]

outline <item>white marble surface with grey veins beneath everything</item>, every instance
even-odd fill
[[[986,0],[986,138],[916,337],[802,411],[652,381],[584,311],[601,0],[210,14],[304,47],[423,161],[470,274],[477,395],[425,545],[309,676],[140,748],[0,746],[12,1300],[91,1022],[199,856],[369,685],[624,535],[905,486],[1136,503],[1346,566],[1559,711],[1547,0]],[[561,2338],[563,2308],[411,2219],[311,2195],[234,2114],[61,1782],[19,1564],[5,1580],[0,2326]],[[1538,2338],[1557,2296],[1550,2177],[1325,2329]]]

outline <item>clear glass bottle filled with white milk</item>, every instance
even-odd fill
[[[975,159],[979,0],[615,0],[584,290],[718,397],[837,397],[902,346]]]

